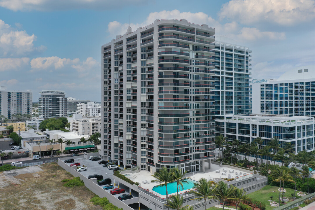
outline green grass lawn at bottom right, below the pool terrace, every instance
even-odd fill
[[[261,201],[262,203],[266,204],[266,210],[272,210],[275,207],[270,206],[270,197],[273,196],[272,201],[276,201],[277,203],[279,202],[279,191],[278,191],[279,187],[275,187],[275,186],[271,186],[271,185],[267,185],[264,188],[262,188],[261,190],[257,190],[255,192],[249,193],[247,194],[247,196],[251,199],[254,199],[256,201]],[[284,194],[284,197],[289,198],[289,201],[287,201],[286,203],[289,203],[292,201],[292,197],[291,194],[294,194],[294,189],[290,189],[290,188],[284,188],[286,190],[286,193]],[[276,192],[272,192],[272,191],[276,191]],[[295,197],[300,198],[300,196],[297,196],[298,191],[296,191],[295,193]],[[281,197],[282,197],[282,193],[281,193]],[[281,203],[280,201],[280,206],[284,205],[283,203]],[[212,209],[214,210],[214,209]]]

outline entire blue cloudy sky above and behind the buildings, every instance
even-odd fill
[[[0,0],[0,86],[101,101],[101,45],[156,19],[215,28],[252,50],[252,78],[315,65],[315,0]]]

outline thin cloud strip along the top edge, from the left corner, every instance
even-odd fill
[[[121,0],[119,7],[132,4],[141,5],[148,3],[147,0]],[[66,9],[95,9],[95,10],[109,10],[117,7],[117,1],[114,0],[0,0],[0,6],[18,10],[66,10]]]

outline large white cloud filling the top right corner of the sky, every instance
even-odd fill
[[[272,22],[284,26],[311,21],[315,17],[314,0],[231,0],[219,16],[243,24]]]

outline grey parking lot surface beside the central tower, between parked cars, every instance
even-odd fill
[[[92,174],[98,174],[98,175],[103,175],[103,178],[106,179],[106,178],[109,178],[112,180],[112,184],[114,184],[114,180],[115,180],[115,184],[116,186],[114,186],[114,188],[118,188],[117,186],[117,178],[113,175],[113,170],[110,170],[108,169],[107,167],[103,167],[103,164],[98,164],[99,161],[91,161],[91,160],[88,160],[88,159],[85,159],[83,156],[75,156],[75,157],[69,157],[69,158],[73,158],[74,159],[74,163],[80,163],[81,165],[78,166],[78,167],[82,167],[83,165],[85,167],[88,168],[87,171],[81,171],[81,172],[78,172],[78,173],[81,173],[83,176],[85,176],[86,178],[89,177],[89,175],[92,175]],[[72,163],[66,163],[67,165],[70,165]],[[120,167],[122,168],[122,167]],[[101,187],[103,188],[105,185],[98,185],[98,187]],[[123,184],[119,184],[119,188],[122,188],[125,190],[125,193],[120,193],[120,194],[116,194],[116,195],[112,195],[112,196],[115,196],[116,198],[120,195],[123,195],[123,194],[129,194],[129,187],[126,187],[125,185]],[[109,189],[109,190],[106,190],[106,191],[111,191],[112,189]],[[135,192],[134,190],[131,191],[131,195],[133,197],[138,197],[138,193]]]

